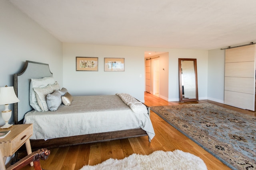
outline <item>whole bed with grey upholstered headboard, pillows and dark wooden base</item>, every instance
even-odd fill
[[[14,74],[14,90],[20,100],[14,104],[14,123],[33,124],[33,136],[30,138],[33,150],[140,136],[148,136],[150,142],[154,137],[150,108],[129,94],[72,96],[64,87],[55,89],[57,82],[44,87],[31,87],[34,80],[41,81],[44,78],[53,78],[49,65],[33,61],[26,61],[22,71]],[[54,88],[54,91],[45,92],[49,88]],[[38,101],[42,110],[38,111],[31,104],[31,89],[35,90],[37,101],[41,92],[49,93],[47,106],[45,101]],[[57,91],[61,94],[62,103],[56,109],[48,105],[48,96]],[[45,98],[45,94],[42,96]],[[51,107],[52,111],[47,110],[47,107]]]

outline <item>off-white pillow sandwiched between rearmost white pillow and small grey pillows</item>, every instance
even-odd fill
[[[48,106],[46,102],[46,96],[47,94],[53,93],[55,90],[60,90],[60,86],[58,82],[52,85],[48,85],[46,87],[37,87],[34,88],[34,91],[36,93],[36,100],[38,103],[38,106],[41,108],[42,111],[48,111]]]

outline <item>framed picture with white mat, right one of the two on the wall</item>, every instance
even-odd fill
[[[124,71],[124,58],[104,58],[104,71]]]

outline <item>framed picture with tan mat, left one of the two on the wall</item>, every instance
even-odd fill
[[[76,71],[98,71],[98,57],[76,57]]]

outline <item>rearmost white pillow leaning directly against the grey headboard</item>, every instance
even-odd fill
[[[29,90],[29,102],[30,102],[30,106],[32,106],[33,109],[35,109],[37,111],[42,111],[42,109],[40,108],[40,106],[37,103],[34,88],[45,87],[48,84],[54,84],[54,83],[55,83],[55,80],[52,76],[44,77],[44,78],[37,78],[37,79],[31,78],[30,90]]]

